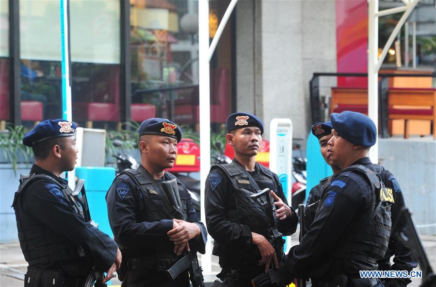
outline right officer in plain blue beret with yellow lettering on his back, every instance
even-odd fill
[[[331,179],[315,219],[301,243],[280,265],[285,283],[312,278],[317,286],[381,286],[360,278],[359,270],[377,270],[388,248],[392,190],[371,170],[368,151],[376,128],[367,116],[345,111],[331,115],[328,156],[341,169]]]

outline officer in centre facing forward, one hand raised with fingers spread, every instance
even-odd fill
[[[271,190],[276,225],[285,236],[295,232],[298,218],[288,206],[277,175],[255,161],[263,134],[260,119],[235,113],[227,118],[226,128],[226,140],[235,158],[231,164],[214,165],[210,170],[205,191],[206,223],[215,240],[213,254],[219,256],[222,268],[217,277],[236,286],[251,286],[254,277],[278,262],[265,238],[265,211],[250,195],[258,189]]]

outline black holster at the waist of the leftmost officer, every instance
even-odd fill
[[[24,275],[24,287],[64,287],[64,280],[63,270],[44,270],[28,267],[27,273]]]

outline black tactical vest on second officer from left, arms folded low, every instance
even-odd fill
[[[144,198],[145,206],[141,206],[140,198],[135,198],[136,202],[136,220],[137,222],[143,221],[160,221],[162,219],[173,219],[174,217],[168,212],[168,209],[165,208],[165,205],[162,202],[161,196],[159,195],[159,191],[157,191],[153,185],[158,183],[151,183],[139,170],[137,169],[127,169],[121,172],[118,176],[126,174],[132,179],[136,186],[138,186],[141,190],[141,198]],[[185,192],[182,186],[182,183],[178,180],[178,178],[171,173],[167,173],[171,180],[176,179],[178,192],[180,195],[181,209],[185,218],[187,218],[187,210],[186,210],[186,200],[184,197]],[[137,194],[133,193],[136,197]],[[160,246],[158,248],[150,248],[147,250],[146,246],[145,253],[146,254],[138,254],[134,249],[130,250],[129,246],[121,246],[120,249],[124,249],[127,256],[130,258],[130,262],[136,262],[138,264],[138,268],[131,269],[155,269],[157,271],[164,271],[174,265],[182,257],[182,255],[177,256],[174,253],[174,243],[170,240],[161,240]],[[134,258],[136,257],[136,258]],[[124,258],[124,257],[123,257]],[[123,259],[124,260],[124,259]]]

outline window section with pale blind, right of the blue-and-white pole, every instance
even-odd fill
[[[120,116],[120,1],[70,1],[72,116],[115,129]]]

